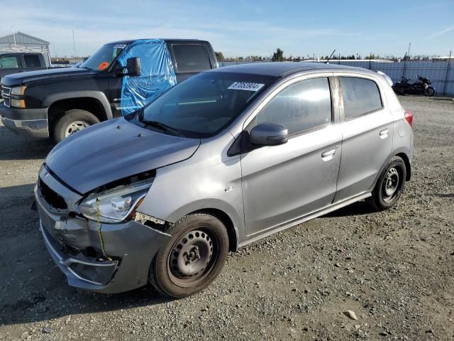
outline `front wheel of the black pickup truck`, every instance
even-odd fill
[[[94,114],[82,109],[71,109],[57,121],[54,129],[55,142],[59,143],[77,131],[99,123],[99,119]]]

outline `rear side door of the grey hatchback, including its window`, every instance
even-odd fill
[[[392,151],[393,118],[374,77],[338,75],[342,159],[335,202],[370,189]]]

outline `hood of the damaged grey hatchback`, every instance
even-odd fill
[[[186,160],[199,145],[199,139],[162,134],[121,118],[69,136],[50,151],[45,164],[63,183],[84,194]]]

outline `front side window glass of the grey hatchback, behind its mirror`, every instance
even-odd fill
[[[328,78],[303,80],[279,92],[255,117],[255,124],[274,123],[289,135],[331,123]]]

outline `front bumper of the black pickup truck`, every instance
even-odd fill
[[[48,109],[18,109],[0,103],[1,123],[13,133],[32,139],[48,139]]]

